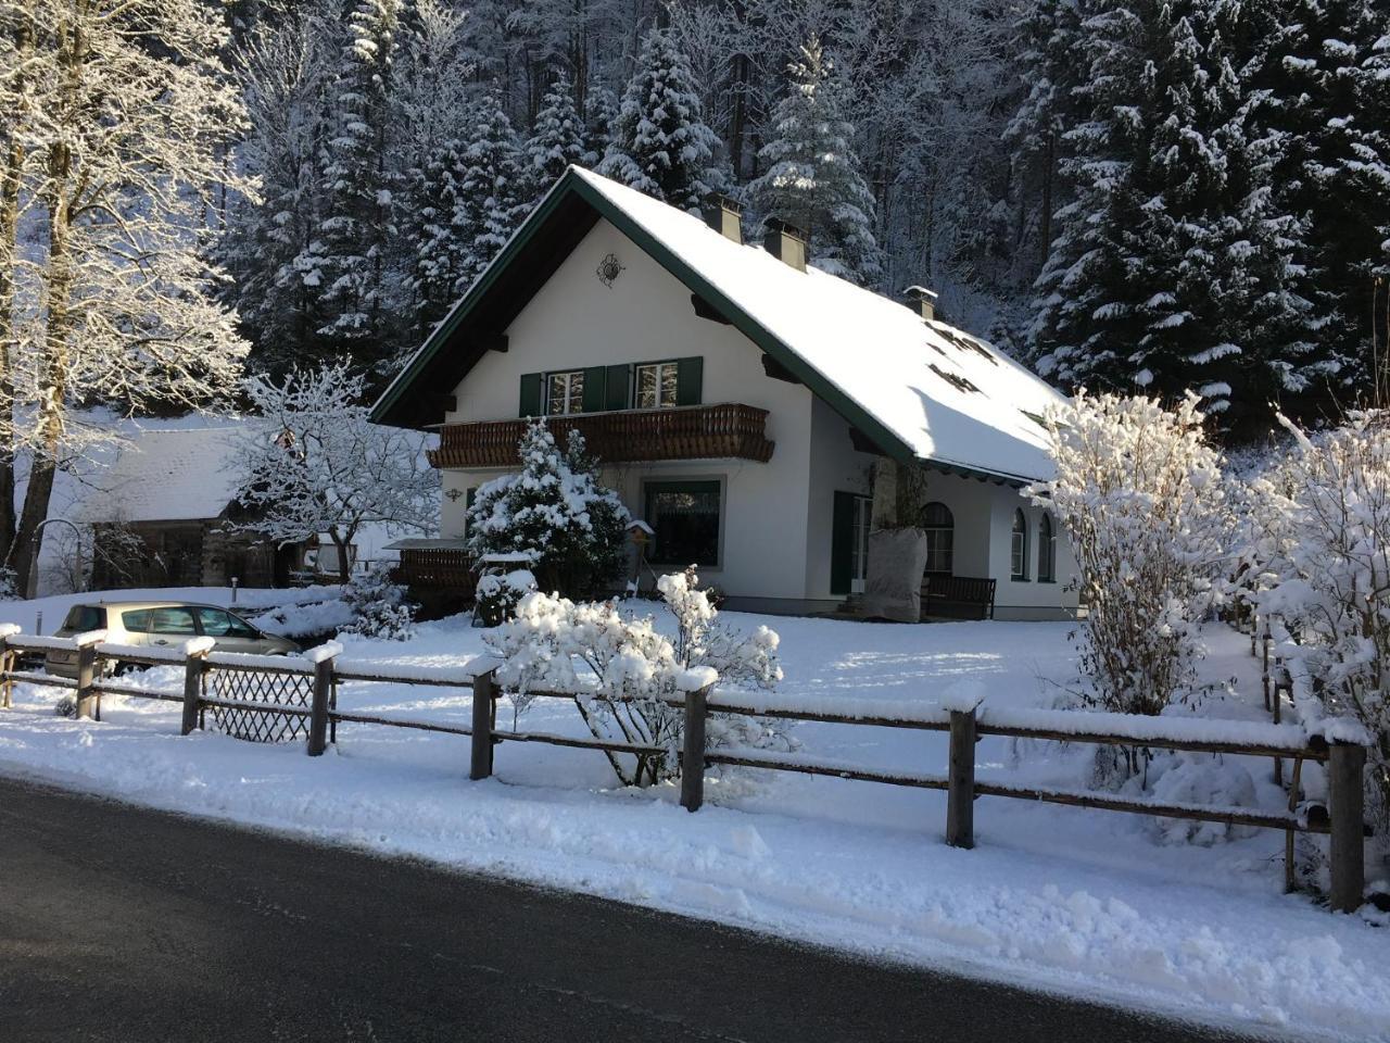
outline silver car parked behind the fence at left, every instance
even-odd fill
[[[288,637],[267,634],[229,609],[186,601],[103,601],[74,605],[56,637],[72,637],[90,630],[104,630],[110,644],[140,648],[178,648],[190,637],[203,636],[213,638],[220,652],[292,655],[300,651]],[[58,677],[76,677],[78,654],[53,649],[44,655],[43,668]]]

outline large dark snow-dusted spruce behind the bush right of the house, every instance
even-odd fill
[[[1066,135],[1077,197],[1038,280],[1038,367],[1072,387],[1194,389],[1236,435],[1268,427],[1268,403],[1318,362],[1291,278],[1301,225],[1273,206],[1276,143],[1258,136],[1243,56],[1205,0],[1116,3],[1088,25],[1090,118]]]

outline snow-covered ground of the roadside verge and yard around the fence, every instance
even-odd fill
[[[49,617],[61,617],[57,601]],[[0,620],[32,631],[32,612],[0,605]],[[991,706],[1051,706],[1074,672],[1068,624],[726,619],[783,636],[792,695],[931,702],[973,680]],[[482,651],[463,619],[404,644],[345,644],[354,661],[414,668]],[[1247,640],[1216,631],[1211,644],[1208,676],[1234,693],[1204,712],[1264,719]],[[177,690],[181,674],[139,677]],[[981,798],[977,847],[960,851],[942,843],[940,793],[744,773],[712,782],[712,804],[689,815],[676,787],[614,789],[591,751],[507,743],[496,777],[470,783],[466,738],[342,725],[336,748],[311,759],[302,745],[181,738],[172,704],[107,698],[101,723],[65,720],[57,695],[17,688],[0,713],[0,772],[1277,1036],[1387,1037],[1390,932],[1282,894],[1283,836],[1270,830],[1170,843],[1145,816]],[[471,712],[466,690],[396,684],[345,684],[339,705],[463,725]],[[506,705],[499,718],[510,723]],[[525,727],[581,729],[573,706],[548,700]],[[816,758],[945,770],[937,733],[802,725],[796,736]],[[979,766],[1074,787],[1090,755],[987,738]],[[1268,762],[1248,766],[1255,800],[1276,807]]]

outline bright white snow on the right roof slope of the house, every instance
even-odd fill
[[[1042,416],[1065,399],[991,345],[815,267],[798,271],[616,181],[570,170],[916,456],[1013,478],[1052,477]]]

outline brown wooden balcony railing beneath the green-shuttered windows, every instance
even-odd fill
[[[553,416],[548,423],[562,448],[570,431],[578,431],[589,453],[605,463],[730,458],[766,463],[773,455],[773,444],[766,435],[767,410],[735,403],[578,413]],[[525,420],[445,424],[430,463],[435,467],[514,467],[517,442],[525,426]]]

